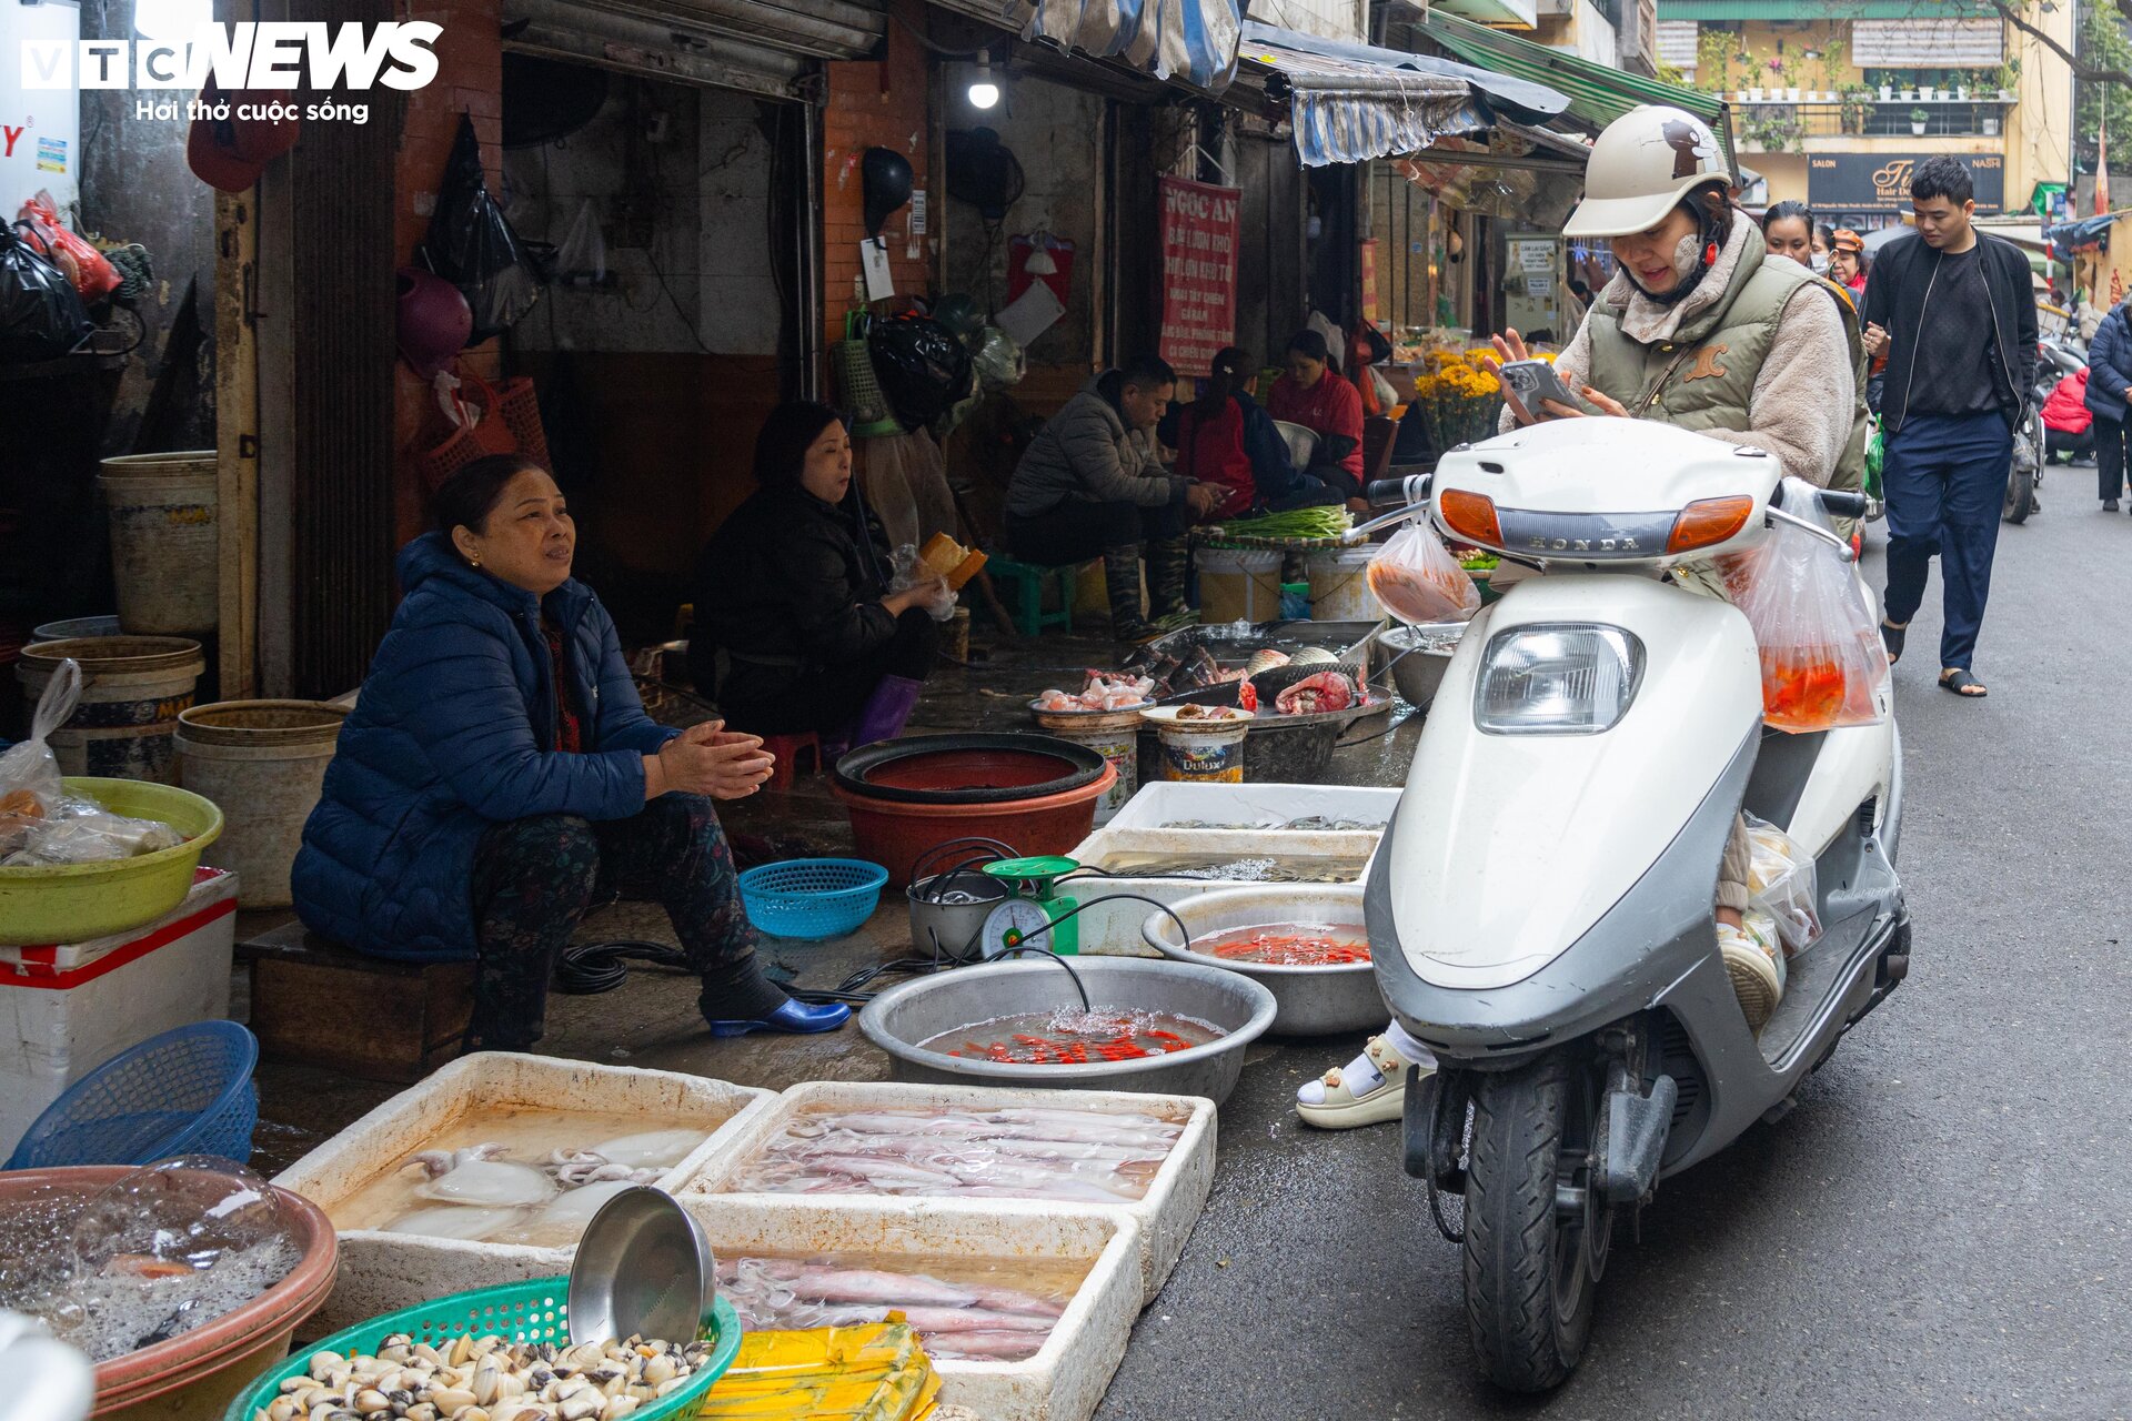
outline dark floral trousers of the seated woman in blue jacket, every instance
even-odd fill
[[[691,971],[731,976],[755,959],[733,852],[710,799],[661,795],[642,812],[591,822],[576,814],[505,820],[473,856],[471,1042],[522,1050],[542,1038],[548,976],[597,893],[661,903]],[[706,989],[706,1016],[716,1003]]]

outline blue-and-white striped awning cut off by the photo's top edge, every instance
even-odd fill
[[[1243,0],[934,0],[1025,40],[1222,89],[1237,72]]]

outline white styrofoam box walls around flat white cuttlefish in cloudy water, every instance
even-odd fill
[[[770,1091],[704,1076],[480,1050],[377,1106],[277,1174],[273,1182],[301,1193],[330,1216],[337,1204],[401,1167],[461,1116],[492,1106],[546,1106],[701,1123],[704,1144],[657,1180],[661,1189],[672,1191],[701,1172],[774,1101]],[[341,1272],[333,1297],[311,1319],[309,1329],[337,1332],[446,1293],[567,1274],[574,1253],[574,1246],[533,1248],[384,1229],[341,1229]]]

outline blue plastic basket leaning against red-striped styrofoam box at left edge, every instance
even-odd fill
[[[252,1159],[260,1046],[235,1020],[203,1020],[122,1050],[51,1101],[9,1170],[145,1165],[171,1155]]]

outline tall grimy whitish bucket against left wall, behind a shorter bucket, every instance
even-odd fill
[[[215,452],[107,458],[96,488],[111,520],[111,573],[128,635],[215,631]]]

